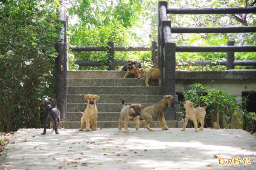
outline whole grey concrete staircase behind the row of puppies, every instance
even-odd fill
[[[98,123],[97,128],[117,128],[119,114],[122,109],[121,101],[126,104],[142,104],[148,107],[163,98],[157,79],[150,79],[149,85],[145,86],[145,79],[123,78],[125,71],[68,71],[68,95],[67,95],[67,120],[61,122],[60,128],[80,127],[81,115],[76,112],[84,112],[87,101],[84,95],[99,95],[97,101]],[[123,120],[124,121],[124,120]],[[168,127],[180,127],[179,121],[166,121]],[[130,121],[129,127],[134,128],[136,123]],[[141,124],[141,128],[145,122]],[[154,120],[151,127],[160,127],[159,122]],[[122,122],[124,127],[124,122]]]

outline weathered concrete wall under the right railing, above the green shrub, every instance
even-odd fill
[[[256,70],[176,71],[176,92],[188,91],[188,86],[195,83],[236,95],[240,102],[242,92],[256,91]]]

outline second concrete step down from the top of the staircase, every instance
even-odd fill
[[[157,78],[150,78],[149,86],[158,86]],[[145,78],[68,78],[68,86],[145,86]]]

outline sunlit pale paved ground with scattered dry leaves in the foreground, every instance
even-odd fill
[[[41,135],[43,129],[20,129],[0,157],[0,170],[255,170],[256,137],[244,130],[180,130],[61,129]]]

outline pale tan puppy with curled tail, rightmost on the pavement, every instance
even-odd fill
[[[198,124],[196,119],[198,119],[198,121],[201,124],[201,127],[199,128],[199,130],[204,130],[204,117],[205,117],[205,109],[208,106],[207,102],[204,102],[205,107],[195,107],[195,104],[191,101],[184,101],[180,103],[180,106],[183,106],[186,109],[186,118],[185,118],[185,122],[183,125],[183,129],[181,131],[185,131],[186,129],[186,125],[190,120],[192,120],[194,122],[195,125],[195,132],[198,132]]]

